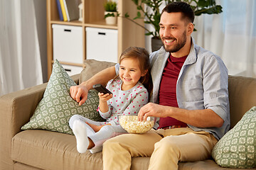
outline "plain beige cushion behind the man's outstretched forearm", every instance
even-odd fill
[[[102,62],[93,59],[85,60],[85,69],[83,69],[80,74],[79,84],[82,83],[82,81],[87,81],[87,79],[90,79],[97,72],[112,67],[115,64],[114,62]]]

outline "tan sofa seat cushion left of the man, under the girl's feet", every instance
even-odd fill
[[[102,169],[102,152],[78,153],[74,135],[48,130],[25,130],[14,136],[14,161],[39,169]]]

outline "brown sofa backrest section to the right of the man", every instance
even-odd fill
[[[230,101],[230,128],[242,118],[247,111],[256,106],[256,79],[250,77],[228,77]]]

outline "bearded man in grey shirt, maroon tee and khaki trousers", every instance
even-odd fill
[[[107,140],[104,169],[130,169],[132,157],[151,157],[149,169],[178,169],[178,162],[208,159],[228,131],[228,70],[220,57],[193,42],[193,19],[193,10],[185,2],[163,9],[159,34],[164,48],[150,56],[152,103],[139,111],[140,120],[149,115],[160,118],[159,129]],[[106,73],[104,78],[111,79],[114,67],[75,87],[71,96],[78,102],[80,96],[85,100],[85,91]]]

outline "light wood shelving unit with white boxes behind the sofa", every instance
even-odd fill
[[[77,1],[78,4],[81,2],[80,0]],[[71,70],[70,74],[77,74],[85,67],[83,61],[87,58],[118,62],[119,55],[127,47],[145,46],[144,29],[132,23],[132,21],[118,17],[116,25],[105,23],[103,8],[105,1],[83,0],[82,21],[64,22],[59,19],[56,1],[47,0],[48,79],[55,58],[65,67],[69,67],[67,70],[70,70],[70,67],[75,70],[74,72]],[[131,18],[137,15],[137,8],[132,0],[117,0],[117,4],[121,16],[124,16],[124,13],[127,12]],[[143,20],[139,23],[144,24]],[[105,36],[105,38],[95,35],[94,38],[91,36],[93,33],[86,33],[89,28],[95,28],[106,33],[113,31],[113,34]],[[117,36],[117,38],[114,38],[114,36]],[[99,45],[97,45],[97,42]],[[94,46],[90,47],[91,44],[94,44]],[[117,47],[114,47],[114,44]],[[109,45],[113,46],[110,47],[111,52],[105,52],[105,55],[97,55],[97,52],[102,51],[104,47]],[[95,57],[93,57],[93,51],[95,51]],[[110,53],[111,57],[107,53]]]

